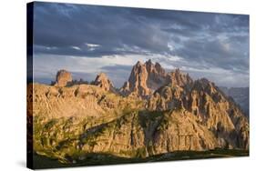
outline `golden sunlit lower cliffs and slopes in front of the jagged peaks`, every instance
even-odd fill
[[[31,88],[34,150],[62,162],[87,153],[147,157],[223,147],[197,116],[184,109],[150,112],[144,101],[106,94],[96,85]]]

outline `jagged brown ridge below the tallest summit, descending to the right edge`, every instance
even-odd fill
[[[189,82],[192,83],[192,82]],[[203,78],[189,86],[165,85],[148,100],[150,110],[185,109],[218,139],[218,146],[248,148],[249,125],[240,108]],[[239,119],[238,119],[239,118]],[[238,139],[239,137],[239,139]],[[247,139],[244,144],[240,139]]]

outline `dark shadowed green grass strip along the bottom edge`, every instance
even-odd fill
[[[143,153],[142,149],[141,152]],[[70,161],[69,164],[62,164],[56,159],[48,158],[46,156],[38,156],[34,154],[34,166],[36,166],[35,168],[48,168],[49,166],[52,168],[67,166],[98,166],[233,156],[249,156],[249,151],[238,149],[216,149],[210,151],[177,151],[169,154],[149,156],[147,158],[143,158],[140,156],[127,158],[113,156],[109,154],[87,154],[80,160],[77,158]]]

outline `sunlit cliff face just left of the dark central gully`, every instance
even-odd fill
[[[82,135],[84,146],[81,150],[88,153],[111,153],[115,156],[135,157],[138,151],[145,150],[145,135],[139,125],[137,113],[130,113],[107,123],[99,129],[100,134]],[[93,146],[91,146],[93,144]]]

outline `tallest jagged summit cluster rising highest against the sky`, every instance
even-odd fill
[[[192,84],[192,79],[188,74],[181,73],[179,69],[168,73],[159,63],[153,64],[148,60],[142,64],[138,61],[132,68],[128,82],[122,86],[120,92],[124,96],[148,98],[159,87],[168,84],[187,86]]]

